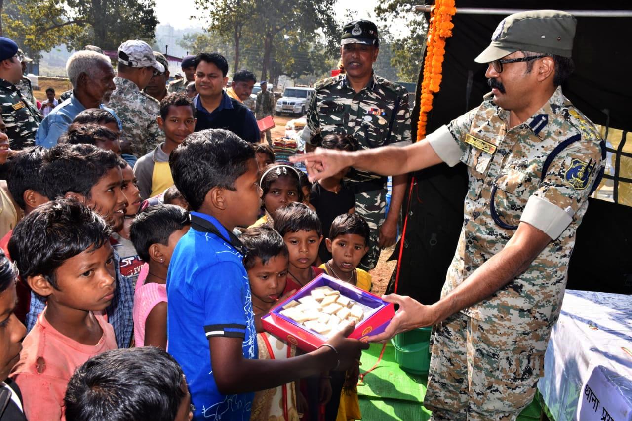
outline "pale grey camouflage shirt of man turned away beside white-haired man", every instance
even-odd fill
[[[121,137],[130,142],[135,156],[142,157],[164,140],[164,134],[156,123],[160,102],[141,92],[131,80],[116,76],[114,85],[116,90],[107,106],[123,123]]]

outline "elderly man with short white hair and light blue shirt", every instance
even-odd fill
[[[75,116],[88,108],[106,109],[121,123],[114,111],[103,105],[116,86],[110,59],[94,51],[77,51],[66,63],[66,73],[73,85],[70,98],[55,107],[42,121],[35,134],[35,144],[50,148],[57,144]]]

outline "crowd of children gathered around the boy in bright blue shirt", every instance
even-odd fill
[[[166,140],[135,165],[103,109],[78,114],[51,149],[9,159],[0,420],[360,417],[368,345],[346,338],[353,323],[305,353],[261,322],[322,273],[370,290],[356,269],[368,226],[344,171],[311,185],[268,145],[193,133],[184,94],[160,112]]]

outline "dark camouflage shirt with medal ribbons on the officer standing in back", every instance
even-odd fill
[[[316,93],[307,111],[310,133],[320,129],[323,136],[351,134],[361,149],[411,143],[408,91],[397,83],[374,74],[367,86],[356,94],[343,74],[325,79],[314,88]],[[382,178],[379,174],[356,169],[352,169],[348,177],[353,181]]]

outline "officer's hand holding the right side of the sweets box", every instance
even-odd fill
[[[434,324],[435,315],[431,310],[432,307],[423,305],[410,298],[410,296],[389,294],[382,295],[382,300],[398,304],[399,310],[396,312],[395,317],[391,319],[386,330],[375,336],[369,336],[369,342],[386,342],[398,333]]]

